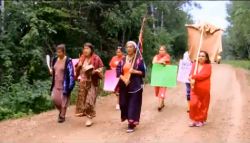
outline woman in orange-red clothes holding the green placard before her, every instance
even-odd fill
[[[163,64],[163,65],[170,65],[170,55],[167,54],[166,46],[160,46],[159,54],[156,55],[153,59],[153,64]],[[165,107],[164,99],[166,98],[166,87],[155,87],[155,96],[159,98],[159,107],[158,111],[161,111],[162,108]]]

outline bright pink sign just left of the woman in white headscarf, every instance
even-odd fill
[[[106,70],[103,90],[114,92],[118,82],[119,78],[116,77],[116,70]]]

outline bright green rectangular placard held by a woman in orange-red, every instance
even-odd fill
[[[175,87],[177,78],[176,65],[153,64],[151,85],[159,87]]]

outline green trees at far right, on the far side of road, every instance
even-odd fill
[[[223,58],[250,59],[250,3],[232,1],[227,4],[229,27],[223,36]]]

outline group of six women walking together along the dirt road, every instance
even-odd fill
[[[121,121],[128,121],[126,132],[133,132],[140,122],[143,78],[146,68],[143,59],[136,54],[137,44],[134,41],[128,41],[125,48],[127,55],[124,55],[122,47],[118,47],[116,56],[111,59],[109,66],[116,70],[116,76],[120,79],[115,90],[116,109],[121,111]],[[189,77],[193,87],[188,93],[191,95],[189,126],[203,125],[207,118],[210,99],[210,60],[206,52],[203,51],[199,54],[198,70],[194,73],[193,66]],[[164,45],[160,46],[159,54],[153,58],[152,63],[170,65],[171,57]],[[57,47],[57,57],[53,59],[50,74],[52,75],[51,93],[54,105],[59,111],[59,123],[65,121],[76,76],[79,77],[79,87],[75,116],[86,116],[86,126],[88,127],[93,124],[92,119],[96,116],[95,104],[98,89],[100,80],[103,78],[103,67],[103,62],[94,53],[94,46],[91,43],[83,45],[83,53],[75,67],[73,67],[71,58],[66,56],[65,45]],[[74,70],[76,75],[74,75]],[[166,87],[155,87],[155,96],[159,98],[158,111],[165,107],[166,91]]]

